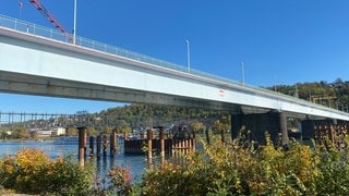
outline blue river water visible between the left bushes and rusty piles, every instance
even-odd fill
[[[121,146],[122,147],[122,146]],[[36,148],[44,151],[51,159],[56,159],[58,157],[67,157],[73,156],[77,161],[77,144],[70,145],[57,145],[53,142],[34,142],[34,140],[25,140],[25,142],[3,142],[0,140],[0,158],[10,155],[15,156],[17,150],[23,148]],[[87,158],[88,159],[88,158]],[[131,176],[134,181],[141,179],[146,163],[145,155],[137,156],[129,156],[124,154],[117,154],[113,157],[108,155],[106,157],[100,157],[99,159],[89,159],[86,161],[95,161],[97,172],[103,176],[106,172],[108,172],[115,166],[120,166],[124,168],[129,168],[131,171]]]

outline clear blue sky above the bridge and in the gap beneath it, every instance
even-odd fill
[[[29,0],[0,14],[52,27]],[[69,30],[73,0],[41,0]],[[79,36],[254,86],[334,82],[349,75],[348,0],[77,0]],[[98,112],[115,102],[0,94],[0,111]]]

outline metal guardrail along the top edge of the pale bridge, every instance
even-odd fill
[[[14,17],[1,15],[1,14],[0,14],[0,26],[73,45],[73,40],[72,40],[73,36],[70,35],[70,34],[62,34],[61,32],[52,29],[52,28],[48,28],[48,27],[45,27],[45,26],[40,26],[40,25],[34,24],[34,23],[29,23],[29,22],[26,22],[26,21],[17,20],[17,19],[14,19]],[[335,109],[332,109],[329,107],[325,107],[325,106],[322,106],[322,105],[313,103],[313,102],[310,102],[310,101],[306,101],[306,100],[303,100],[303,99],[291,97],[291,96],[288,96],[288,95],[285,95],[285,94],[279,94],[277,91],[268,90],[268,89],[265,89],[265,88],[262,88],[262,87],[255,87],[255,86],[252,86],[252,85],[242,84],[242,83],[239,83],[239,82],[233,81],[233,79],[229,79],[229,78],[226,78],[226,77],[217,76],[217,75],[209,74],[209,73],[206,73],[206,72],[202,72],[202,71],[198,71],[198,70],[191,69],[190,73],[189,73],[188,68],[185,68],[185,66],[182,66],[182,65],[179,65],[179,64],[176,64],[176,63],[171,63],[171,62],[168,62],[168,61],[159,60],[159,59],[156,59],[156,58],[152,58],[149,56],[141,54],[141,53],[137,53],[137,52],[133,52],[133,51],[130,51],[130,50],[127,50],[127,49],[123,49],[123,48],[119,48],[119,47],[115,47],[115,46],[111,46],[111,45],[107,45],[107,44],[104,44],[104,42],[100,42],[100,41],[95,41],[95,40],[92,40],[92,39],[87,39],[87,38],[84,38],[84,37],[76,36],[75,37],[75,44],[77,46],[80,46],[80,47],[93,49],[93,50],[96,50],[96,51],[101,51],[101,52],[106,52],[106,53],[109,53],[109,54],[115,54],[115,56],[129,58],[129,59],[132,59],[132,60],[135,60],[135,61],[145,62],[145,63],[149,63],[149,64],[153,64],[153,65],[176,70],[176,71],[188,73],[188,74],[191,74],[191,75],[196,75],[196,76],[201,76],[201,77],[207,77],[207,78],[210,78],[210,79],[214,79],[214,81],[217,81],[217,82],[224,82],[224,83],[238,85],[238,86],[241,86],[241,87],[246,87],[246,88],[253,89],[255,94],[258,94],[258,93],[262,94],[262,95],[268,94],[269,96],[275,96],[277,98],[282,98],[285,100],[297,102],[299,105],[308,105],[308,106],[312,106],[314,108],[321,108],[321,109],[324,109],[324,110],[327,110],[327,111],[328,110],[330,110],[330,111],[340,111],[340,110],[335,110]]]

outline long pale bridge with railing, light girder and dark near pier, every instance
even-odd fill
[[[286,117],[349,121],[339,110],[70,37],[0,15],[0,91],[227,110],[233,133],[248,124],[260,135],[281,132],[285,143]]]

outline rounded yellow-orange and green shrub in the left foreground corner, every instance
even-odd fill
[[[25,148],[0,161],[1,185],[26,194],[82,195],[91,192],[93,169],[72,159],[50,160],[43,151]]]

